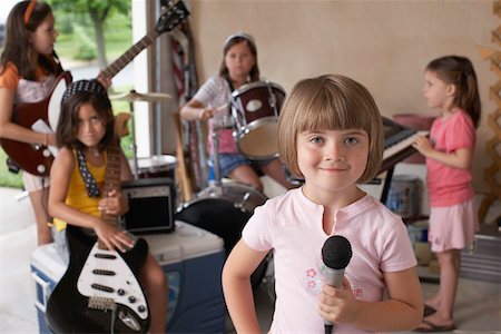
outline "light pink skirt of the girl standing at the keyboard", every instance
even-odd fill
[[[434,253],[463,249],[473,243],[478,230],[473,198],[453,206],[430,208],[428,240]]]

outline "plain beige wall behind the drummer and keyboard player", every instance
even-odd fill
[[[264,79],[288,91],[305,77],[343,73],[365,85],[382,115],[439,115],[422,96],[423,69],[441,56],[469,57],[483,107],[474,159],[474,187],[487,190],[489,86],[497,81],[477,46],[491,47],[499,24],[492,1],[272,1],[191,0],[189,17],[200,82],[217,75],[223,42],[252,33]]]

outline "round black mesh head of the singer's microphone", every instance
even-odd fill
[[[322,259],[332,269],[344,269],[352,258],[352,245],[341,235],[330,236],[322,247]]]

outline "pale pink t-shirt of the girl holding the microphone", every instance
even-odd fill
[[[323,206],[307,199],[301,188],[268,199],[257,207],[243,230],[253,249],[273,249],[275,313],[271,333],[323,333],[317,313],[321,291],[321,249],[327,239],[322,228]],[[334,214],[332,235],[346,237],[353,257],[345,275],[357,299],[383,299],[383,272],[400,272],[416,265],[402,219],[380,202],[364,196]],[[365,333],[336,325],[335,333]]]

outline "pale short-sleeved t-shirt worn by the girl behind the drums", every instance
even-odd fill
[[[232,91],[228,82],[222,77],[210,77],[193,97],[206,107],[218,109],[228,105]],[[213,118],[209,119],[207,145],[209,153],[213,151],[214,125],[228,125],[229,107],[222,108]],[[230,124],[229,124],[230,125]],[[219,153],[235,154],[238,149],[233,137],[233,129],[219,130]]]

